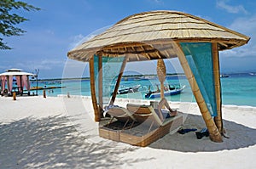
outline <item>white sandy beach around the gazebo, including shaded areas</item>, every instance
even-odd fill
[[[143,100],[120,99],[148,104]],[[183,128],[205,127],[198,107],[172,103]],[[230,138],[167,134],[146,148],[98,137],[90,98],[0,97],[0,168],[255,168],[256,108],[224,105]]]

